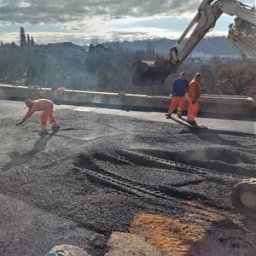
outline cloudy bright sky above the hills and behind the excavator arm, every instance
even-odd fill
[[[255,0],[242,0],[253,6]],[[0,0],[0,40],[19,43],[20,26],[36,44],[90,44],[178,38],[201,0]],[[227,35],[234,16],[222,15],[208,36]]]

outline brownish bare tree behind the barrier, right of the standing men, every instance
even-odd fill
[[[252,61],[218,68],[217,86],[223,94],[241,95],[255,88],[256,70]]]

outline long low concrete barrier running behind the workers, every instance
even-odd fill
[[[0,97],[4,99],[24,100],[26,97],[49,98],[63,104],[98,106],[105,108],[146,108],[162,111],[168,109],[171,98],[168,96],[147,96],[118,94],[110,92],[66,90],[63,96],[55,96],[49,88],[31,90],[26,86],[0,84]],[[188,103],[185,102],[185,110]],[[255,116],[256,102],[247,96],[203,95],[200,99],[201,112]]]

